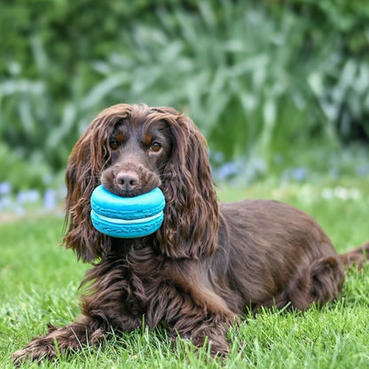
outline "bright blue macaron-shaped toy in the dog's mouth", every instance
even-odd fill
[[[135,197],[121,197],[99,185],[90,203],[93,226],[98,232],[120,239],[156,232],[164,218],[165,198],[158,187]]]

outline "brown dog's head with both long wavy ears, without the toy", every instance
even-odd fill
[[[218,209],[206,140],[169,107],[111,106],[76,143],[67,164],[67,247],[84,261],[104,257],[111,239],[90,221],[90,195],[103,183],[119,196],[160,187],[164,222],[153,247],[171,258],[199,257],[216,247]]]

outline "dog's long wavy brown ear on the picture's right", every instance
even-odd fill
[[[172,108],[156,108],[168,122],[172,152],[162,175],[166,199],[157,233],[161,252],[172,258],[210,255],[216,250],[218,202],[205,138],[193,122]]]

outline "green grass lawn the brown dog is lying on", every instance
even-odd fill
[[[342,179],[283,185],[271,181],[247,189],[220,186],[222,200],[274,198],[314,216],[339,252],[369,239],[365,180]],[[48,322],[65,325],[79,314],[78,286],[88,265],[58,247],[63,220],[27,216],[0,225],[0,367],[12,368],[12,352]],[[211,360],[187,342],[175,347],[164,330],[144,328],[113,336],[100,348],[60,357],[59,368],[364,368],[369,366],[369,266],[349,271],[341,296],[318,309],[287,313],[263,310],[229,332],[232,350]],[[26,364],[55,367],[55,363]]]

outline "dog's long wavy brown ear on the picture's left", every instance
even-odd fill
[[[95,118],[75,144],[67,163],[64,244],[78,258],[90,262],[109,251],[110,238],[98,232],[90,220],[90,196],[100,184],[101,171],[109,162],[108,139],[114,124],[130,115],[125,104],[109,107]]]

